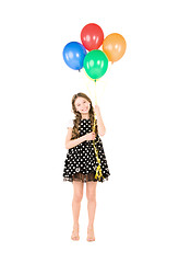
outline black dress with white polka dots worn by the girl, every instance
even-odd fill
[[[79,125],[79,132],[80,136],[91,133],[91,119],[81,119]],[[108,180],[110,173],[99,135],[97,135],[95,138],[95,146],[98,151],[98,158],[100,160],[99,165],[102,169],[103,178],[100,180],[95,179],[98,162],[95,156],[93,140],[85,140],[82,144],[68,149],[63,169],[63,181],[104,182]]]

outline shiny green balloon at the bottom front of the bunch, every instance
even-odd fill
[[[92,50],[85,56],[83,66],[86,73],[96,80],[106,73],[108,58],[102,50]]]

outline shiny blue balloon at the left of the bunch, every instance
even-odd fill
[[[72,69],[80,70],[83,68],[83,60],[86,56],[86,49],[79,42],[70,42],[63,48],[64,62]]]

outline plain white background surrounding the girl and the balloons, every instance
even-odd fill
[[[76,92],[94,92],[62,49],[87,23],[127,41],[96,85],[111,173],[97,185],[96,241],[79,242],[72,184],[62,182]],[[0,261],[179,262],[179,38],[177,1],[1,1]],[[93,95],[92,95],[93,96]]]

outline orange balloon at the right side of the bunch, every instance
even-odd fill
[[[103,50],[111,62],[118,61],[127,49],[127,43],[122,35],[112,33],[103,42]]]

